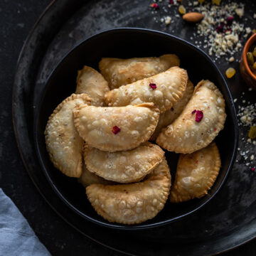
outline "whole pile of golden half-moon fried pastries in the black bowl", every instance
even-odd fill
[[[79,70],[75,94],[48,120],[54,166],[79,178],[93,208],[110,222],[154,218],[169,195],[174,203],[200,198],[218,175],[213,139],[225,122],[223,96],[208,80],[194,89],[178,65],[171,54],[102,58],[101,74]],[[148,142],[155,139],[158,145]],[[181,153],[172,186],[160,146]]]

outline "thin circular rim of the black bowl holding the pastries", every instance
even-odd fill
[[[115,230],[146,230],[149,228],[157,228],[159,226],[162,225],[166,225],[169,223],[173,223],[174,221],[177,220],[181,220],[183,218],[186,218],[188,215],[191,215],[193,213],[195,213],[197,210],[203,208],[203,206],[205,206],[212,198],[214,198],[214,196],[218,193],[218,191],[220,191],[220,188],[222,188],[223,184],[225,183],[228,174],[230,172],[230,169],[232,169],[234,161],[235,161],[235,156],[236,156],[236,152],[237,152],[237,148],[238,148],[238,119],[237,119],[237,114],[236,114],[236,110],[235,110],[235,104],[233,102],[233,97],[230,93],[230,90],[228,88],[228,85],[225,81],[225,79],[223,78],[222,73],[220,73],[220,70],[218,69],[217,65],[213,62],[213,60],[210,58],[209,55],[207,55],[203,50],[201,50],[200,48],[198,48],[197,46],[194,46],[192,43],[189,43],[188,41],[182,39],[182,38],[178,38],[177,36],[171,35],[169,33],[164,33],[161,31],[156,31],[153,29],[149,29],[149,28],[136,28],[136,27],[119,27],[119,28],[110,28],[104,31],[100,31],[98,33],[93,34],[92,36],[87,36],[86,38],[82,39],[81,41],[79,41],[78,43],[75,44],[75,46],[73,46],[72,48],[70,48],[70,50],[68,50],[67,53],[65,53],[65,55],[63,55],[63,57],[58,61],[58,63],[55,65],[55,67],[53,68],[53,70],[50,72],[50,74],[48,75],[48,78],[46,79],[46,82],[44,82],[44,90],[43,90],[43,94],[41,97],[41,101],[39,103],[38,106],[38,110],[41,110],[41,105],[42,105],[42,100],[43,97],[46,93],[46,88],[48,87],[48,83],[50,82],[50,79],[53,76],[53,73],[55,73],[55,70],[58,69],[59,65],[61,63],[63,63],[63,60],[65,60],[66,57],[68,57],[68,55],[70,55],[70,53],[73,52],[73,50],[75,50],[76,48],[78,48],[80,45],[82,45],[83,43],[85,43],[85,41],[90,41],[91,39],[95,39],[97,37],[100,37],[102,35],[104,35],[105,33],[112,33],[112,32],[119,32],[119,31],[137,31],[137,32],[143,32],[143,33],[154,33],[154,34],[159,34],[162,36],[167,36],[169,38],[172,38],[176,41],[181,41],[182,43],[190,46],[191,48],[193,48],[193,50],[196,50],[198,53],[201,53],[208,61],[210,61],[210,63],[213,64],[215,70],[217,71],[218,75],[220,76],[220,79],[223,81],[223,85],[225,87],[225,90],[227,92],[228,95],[228,100],[230,100],[231,103],[231,112],[232,112],[232,119],[233,122],[235,123],[234,125],[234,135],[235,135],[235,140],[234,140],[234,147],[233,147],[233,153],[231,156],[231,160],[230,163],[228,165],[228,170],[225,173],[225,176],[223,177],[223,180],[220,182],[220,186],[218,186],[218,188],[216,188],[216,191],[212,194],[212,196],[210,196],[210,198],[208,198],[208,200],[206,200],[205,202],[203,202],[201,204],[201,206],[198,206],[197,208],[188,211],[187,213],[184,213],[182,215],[179,215],[175,218],[171,218],[169,220],[162,220],[159,221],[157,223],[149,223],[149,224],[136,224],[136,225],[124,225],[124,224],[119,224],[119,223],[110,223],[107,220],[104,220],[102,218],[102,220],[96,220],[95,218],[90,217],[89,215],[82,213],[80,210],[78,210],[78,208],[75,208],[75,206],[73,206],[72,203],[70,203],[63,195],[62,193],[60,193],[60,191],[58,190],[58,188],[55,186],[55,184],[53,183],[52,179],[50,178],[50,175],[48,174],[48,171],[45,167],[45,165],[43,164],[43,159],[41,157],[40,154],[40,149],[38,146],[38,117],[39,117],[39,111],[36,112],[36,118],[34,119],[34,124],[33,124],[33,142],[35,144],[35,148],[36,148],[36,155],[38,156],[38,160],[40,162],[41,168],[43,169],[43,174],[45,174],[48,182],[50,183],[50,186],[53,188],[53,190],[55,191],[55,193],[60,197],[60,199],[69,207],[71,208],[75,213],[78,213],[78,215],[82,216],[82,218],[85,218],[87,220],[90,220],[92,223],[95,223],[97,225],[101,225],[105,228],[113,228]],[[106,221],[106,222],[105,222]]]

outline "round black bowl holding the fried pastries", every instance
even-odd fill
[[[109,223],[100,215],[97,215],[87,200],[85,188],[78,183],[77,179],[68,178],[53,167],[46,151],[43,135],[46,122],[55,107],[65,97],[75,92],[76,75],[83,65],[98,69],[98,63],[102,57],[148,57],[165,53],[176,53],[178,55],[181,59],[181,68],[188,71],[189,78],[194,85],[202,79],[208,79],[213,81],[224,95],[227,119],[225,128],[215,139],[220,149],[222,161],[220,173],[208,195],[203,196],[203,198],[180,204],[171,204],[167,201],[164,209],[155,218],[139,225]],[[164,225],[183,218],[204,206],[215,196],[233,166],[238,143],[238,124],[228,86],[220,71],[206,53],[203,53],[202,50],[191,45],[191,43],[167,33],[141,28],[115,28],[85,39],[70,50],[58,63],[50,78],[48,78],[45,90],[41,95],[41,102],[36,112],[34,135],[38,158],[49,183],[55,193],[75,213],[109,228],[143,229]],[[166,152],[166,158],[171,166],[172,176],[174,176],[177,155]]]

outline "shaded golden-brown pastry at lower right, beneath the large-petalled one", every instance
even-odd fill
[[[220,170],[220,154],[215,142],[192,154],[180,154],[174,184],[172,203],[201,198],[213,186]]]

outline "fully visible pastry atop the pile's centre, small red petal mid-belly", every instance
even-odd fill
[[[80,137],[96,149],[124,151],[146,142],[154,132],[159,109],[153,103],[127,107],[76,107],[74,124]]]

